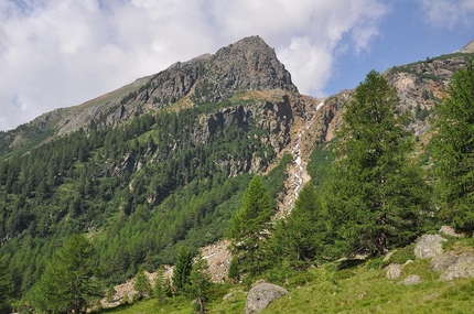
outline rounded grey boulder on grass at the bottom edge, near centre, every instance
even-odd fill
[[[284,288],[272,283],[259,283],[250,289],[247,295],[247,302],[245,304],[246,314],[259,313],[266,308],[271,302],[280,299],[288,294]]]

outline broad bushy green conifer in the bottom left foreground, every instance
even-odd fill
[[[57,250],[30,296],[36,310],[53,313],[86,313],[101,295],[94,277],[93,249],[84,235],[72,236]]]

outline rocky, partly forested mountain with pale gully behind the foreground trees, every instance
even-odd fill
[[[472,56],[384,74],[420,143],[451,75]],[[301,95],[274,51],[251,36],[0,133],[0,253],[15,297],[76,232],[91,239],[107,285],[172,263],[181,245],[222,239],[252,174],[263,176],[276,214],[289,212],[305,182],[325,180],[352,96]]]

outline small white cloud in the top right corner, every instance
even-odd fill
[[[474,0],[419,0],[424,21],[439,29],[471,26],[474,21]]]

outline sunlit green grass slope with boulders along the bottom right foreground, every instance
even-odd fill
[[[331,262],[304,272],[273,270],[266,278],[273,278],[289,290],[289,294],[270,304],[262,314],[269,313],[472,313],[474,308],[474,279],[439,281],[440,272],[430,270],[430,260],[418,260],[413,256],[414,245],[398,249],[389,261],[384,257],[362,261]],[[456,253],[473,252],[472,238],[451,238],[444,250]],[[399,279],[386,278],[384,268],[390,262],[405,263]],[[412,274],[421,278],[421,283],[402,285],[400,282]],[[213,289],[208,313],[237,314],[245,312],[248,288],[244,284],[217,284]],[[231,292],[233,296],[223,300]],[[140,301],[120,305],[97,313],[194,313],[190,299],[173,297],[165,303],[157,300]]]

